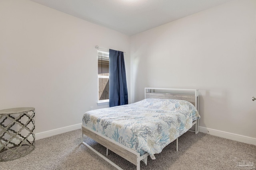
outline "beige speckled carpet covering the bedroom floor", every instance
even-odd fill
[[[91,139],[84,141],[101,152],[106,149]],[[0,170],[113,170],[112,165],[90,149],[81,145],[81,130],[63,133],[36,141],[36,149],[27,156],[8,162],[0,162]],[[198,133],[187,132],[171,143],[156,160],[148,156],[148,165],[141,162],[141,170],[244,170],[256,166],[256,146]],[[107,156],[125,170],[136,166],[109,152]],[[244,160],[244,163],[242,162]],[[254,166],[237,166],[250,162]]]

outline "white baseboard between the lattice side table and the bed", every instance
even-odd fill
[[[69,131],[74,131],[77,129],[82,128],[82,123],[76,124],[76,125],[71,125],[71,126],[66,126],[66,127],[62,127],[62,128],[58,128],[58,129],[53,129],[50,131],[45,131],[45,132],[40,132],[40,133],[36,133],[36,140],[38,139],[43,139],[46,137],[51,137],[54,135],[58,135],[61,133],[65,133],[65,132],[69,132]]]

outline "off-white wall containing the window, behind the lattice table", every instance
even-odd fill
[[[36,133],[82,123],[98,107],[95,45],[126,51],[130,37],[29,0],[0,1],[0,109],[36,108]]]

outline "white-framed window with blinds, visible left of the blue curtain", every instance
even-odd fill
[[[98,51],[98,104],[109,102],[109,52]]]

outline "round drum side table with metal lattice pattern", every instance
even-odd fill
[[[35,108],[0,110],[0,161],[18,159],[35,148]]]

